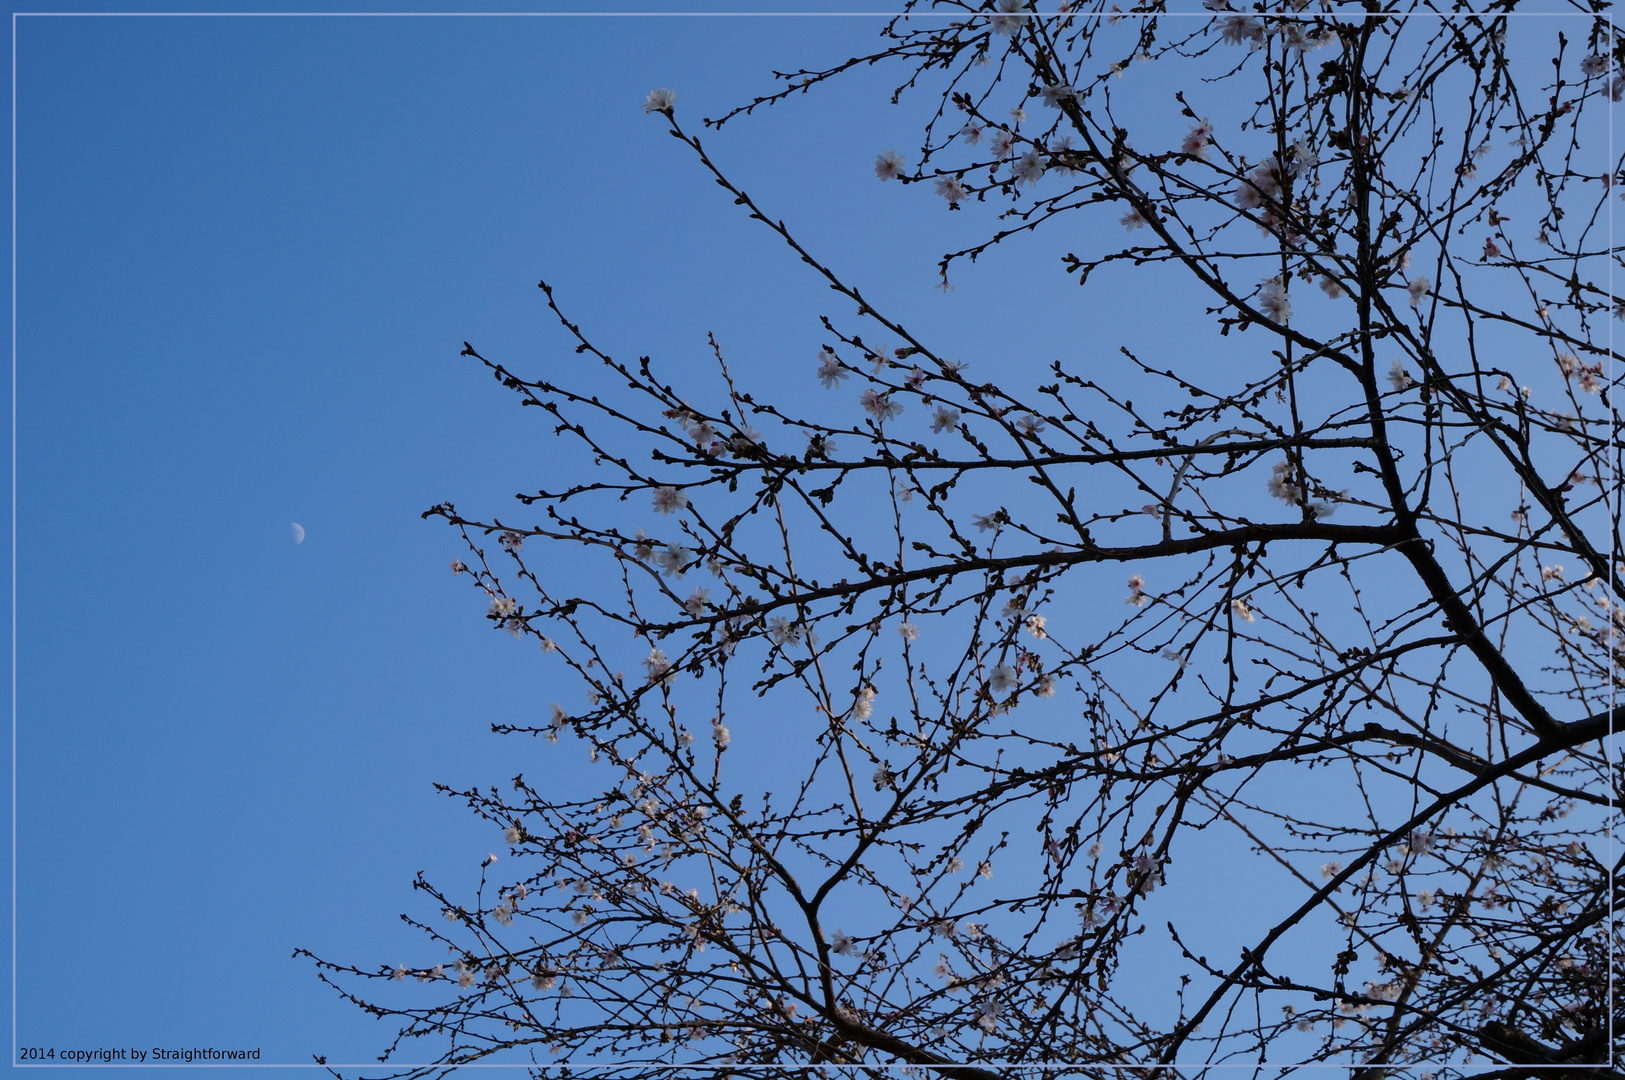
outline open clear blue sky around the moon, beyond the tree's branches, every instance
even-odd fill
[[[419,515],[509,515],[587,461],[462,344],[569,382],[548,278],[618,356],[692,372],[715,331],[746,388],[826,401],[816,317],[850,305],[640,104],[670,86],[697,130],[774,68],[869,49],[881,19],[15,26],[18,1044],[370,1061],[393,1025],[291,953],[419,961],[396,918],[424,914],[413,875],[471,887],[502,849],[431,784],[562,762],[489,734],[561,690]],[[933,104],[889,106],[890,75],[707,146],[990,378],[1214,346],[1147,304],[1154,271],[1079,291],[1076,226],[936,291],[936,258],[993,214],[876,182]]]

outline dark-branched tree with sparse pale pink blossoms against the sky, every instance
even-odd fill
[[[322,978],[444,1064],[1617,1077],[1622,60],[1511,3],[942,0],[707,122],[900,65],[925,140],[876,174],[994,222],[944,286],[1074,222],[1066,273],[1183,281],[1211,335],[1030,393],[866,302],[652,93],[855,305],[806,349],[842,406],[757,400],[715,343],[668,382],[546,283],[618,393],[465,349],[598,466],[426,515],[585,692],[496,729],[596,771],[538,745],[448,791],[515,869],[419,879],[424,957]]]

